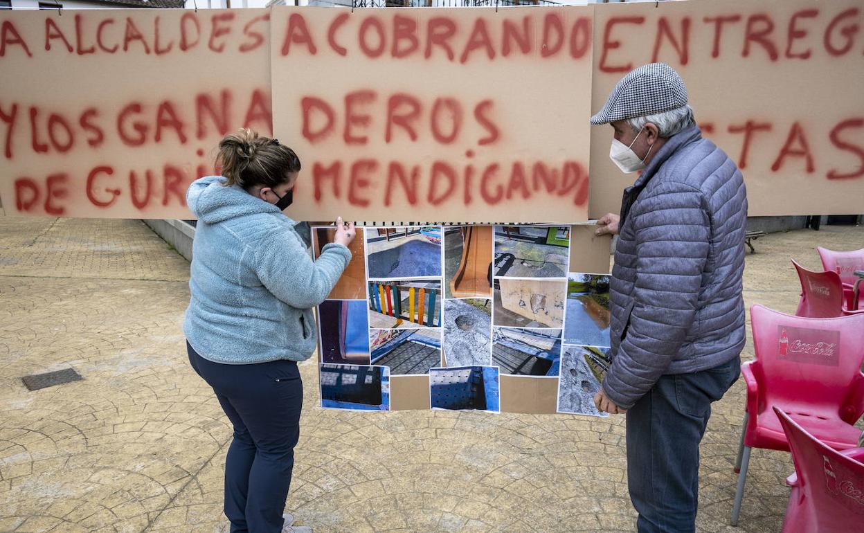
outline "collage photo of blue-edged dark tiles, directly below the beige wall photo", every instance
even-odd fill
[[[492,365],[502,374],[556,377],[561,367],[561,330],[496,327]]]

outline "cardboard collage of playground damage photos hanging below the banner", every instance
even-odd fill
[[[321,406],[601,416],[610,239],[594,227],[358,227],[317,309]],[[314,258],[333,238],[312,227]]]

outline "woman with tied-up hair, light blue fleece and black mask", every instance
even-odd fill
[[[222,175],[187,192],[198,217],[183,325],[189,362],[234,426],[225,466],[231,532],[292,531],[283,510],[303,399],[296,362],[315,350],[312,308],[351,260],[354,226],[337,220],[334,242],[313,262],[282,213],[300,173],[294,151],[241,130],[219,143],[218,162]]]

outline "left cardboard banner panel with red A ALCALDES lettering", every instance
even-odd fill
[[[8,214],[188,219],[219,140],[270,135],[269,10],[0,12]]]

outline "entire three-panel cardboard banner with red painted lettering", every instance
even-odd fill
[[[750,215],[861,210],[856,0],[67,13],[0,11],[8,214],[188,218],[219,139],[275,124],[303,162],[295,219],[597,218],[635,175],[588,117],[655,60],[738,163]]]

